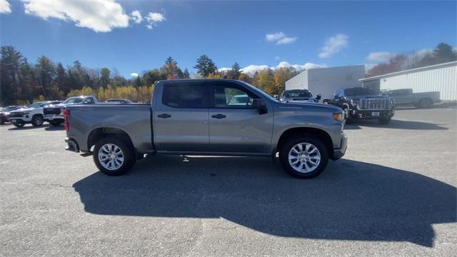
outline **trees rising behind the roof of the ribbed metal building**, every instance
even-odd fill
[[[443,64],[450,61],[457,61],[457,51],[449,44],[440,43],[430,52],[396,54],[389,61],[373,66],[366,74],[366,77],[416,69],[434,64]]]

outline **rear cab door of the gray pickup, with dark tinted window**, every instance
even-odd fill
[[[154,146],[161,151],[209,151],[208,85],[164,83],[153,109]]]

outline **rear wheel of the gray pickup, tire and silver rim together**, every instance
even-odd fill
[[[94,162],[108,176],[122,175],[136,162],[134,147],[114,136],[101,138],[94,147]]]

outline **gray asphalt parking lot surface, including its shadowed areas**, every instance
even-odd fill
[[[455,256],[457,109],[346,126],[346,156],[150,156],[108,177],[63,127],[0,126],[1,256]]]

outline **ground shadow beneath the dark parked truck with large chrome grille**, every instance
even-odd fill
[[[433,124],[423,121],[402,121],[392,119],[390,124],[379,124],[377,120],[356,120],[345,124],[344,129],[362,129],[361,126],[386,129],[411,129],[411,130],[447,130],[443,124]]]

